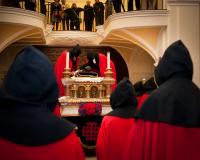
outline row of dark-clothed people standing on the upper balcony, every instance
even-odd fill
[[[20,0],[3,0],[2,2],[2,5],[6,6],[17,8],[23,6],[20,5]],[[45,0],[24,0],[22,2],[25,9],[31,11],[36,11],[37,6],[40,6],[37,10],[50,16],[53,30],[80,30],[80,24],[83,22],[85,31],[93,31],[94,22],[96,26],[103,25],[104,20],[114,12],[126,11],[122,0],[106,0],[105,3],[95,0],[93,5],[90,0],[87,0],[83,8],[78,7],[75,2],[70,6],[67,0],[54,0],[54,2],[48,3],[48,6],[46,6]],[[135,0],[135,4],[133,4],[133,0],[128,0],[127,11],[140,9],[157,9],[157,0]],[[80,16],[81,12],[84,13],[83,17]]]

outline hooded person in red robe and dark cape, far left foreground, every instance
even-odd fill
[[[52,111],[58,85],[49,59],[25,47],[0,89],[1,160],[84,160],[75,126]]]

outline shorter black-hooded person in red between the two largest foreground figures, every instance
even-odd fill
[[[113,109],[102,121],[96,152],[98,160],[121,160],[127,135],[134,125],[137,99],[132,83],[123,79],[110,97]]]

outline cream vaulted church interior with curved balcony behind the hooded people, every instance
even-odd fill
[[[152,0],[149,3],[148,0],[140,0],[139,8],[133,1],[132,10],[129,9],[130,1],[122,0],[121,11],[117,13],[111,6],[109,15],[106,13],[109,0],[100,0],[105,6],[104,23],[96,25],[94,18],[91,31],[85,29],[84,11],[78,15],[82,19],[80,29],[67,29],[66,24],[63,27],[63,23],[67,22],[62,20],[56,28],[56,23],[52,24],[51,11],[54,0],[35,0],[34,11],[26,9],[26,1],[23,0],[19,1],[20,8],[3,1],[0,1],[0,84],[17,53],[25,46],[32,45],[42,51],[54,65],[63,51],[70,51],[77,44],[81,48],[79,66],[84,64],[88,52],[103,55],[109,52],[116,67],[116,83],[127,77],[135,84],[153,77],[165,49],[180,39],[193,61],[193,82],[200,87],[200,0]],[[42,3],[45,12],[42,11]],[[77,7],[84,8],[86,0],[59,3],[65,3],[68,8],[76,3]],[[95,0],[92,0],[91,5],[94,3]],[[67,103],[63,106],[67,108]],[[102,117],[77,115],[67,116],[67,113],[62,115],[61,112],[61,116],[79,125],[91,121],[97,122],[98,126],[101,124]],[[82,133],[78,131],[78,135]],[[97,134],[98,129],[96,137]],[[87,142],[87,138],[81,140],[87,158],[96,159],[96,139],[91,142]]]

